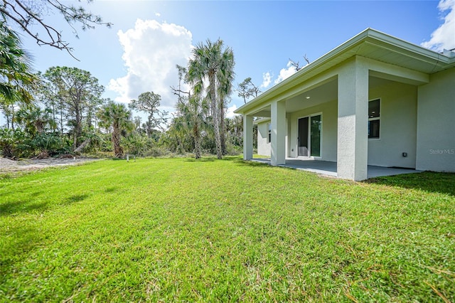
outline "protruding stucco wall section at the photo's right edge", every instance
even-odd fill
[[[418,88],[416,169],[455,172],[455,68]]]

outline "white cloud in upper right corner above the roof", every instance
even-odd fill
[[[432,33],[432,38],[421,46],[441,52],[444,48],[455,48],[455,0],[439,1],[438,9],[441,14],[448,11],[443,18],[444,23]]]

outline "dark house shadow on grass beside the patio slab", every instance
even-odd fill
[[[455,174],[424,171],[419,174],[383,176],[364,181],[365,183],[399,186],[427,192],[446,193],[455,196]]]

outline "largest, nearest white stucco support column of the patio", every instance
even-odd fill
[[[338,74],[337,174],[355,181],[368,172],[368,67],[359,58]]]

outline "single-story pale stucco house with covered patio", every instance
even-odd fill
[[[367,28],[236,111],[244,159],[336,161],[342,179],[368,165],[455,172],[455,52]]]

